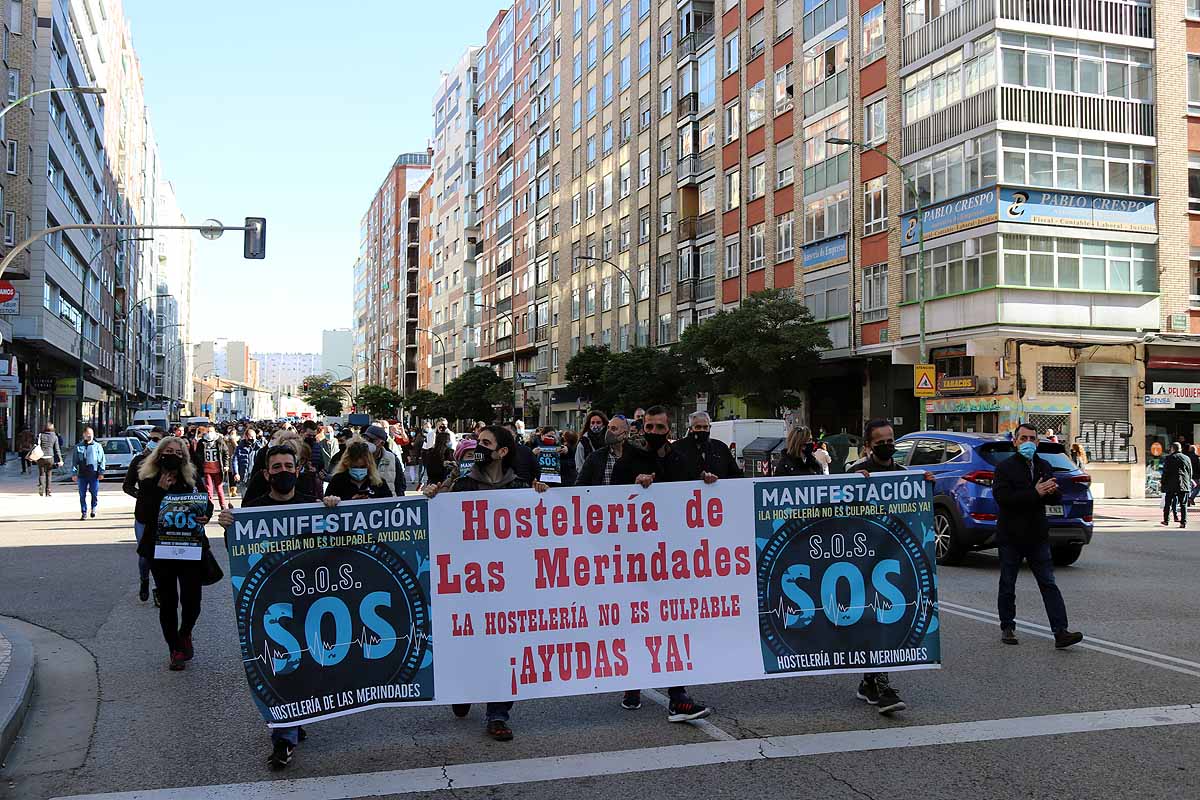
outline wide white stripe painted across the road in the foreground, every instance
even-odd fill
[[[352,800],[379,795],[512,786],[606,775],[630,775],[828,753],[959,745],[1069,733],[1200,724],[1200,705],[1163,705],[1082,714],[1055,714],[946,724],[839,730],[766,739],[737,739],[698,745],[643,747],[577,756],[550,756],[506,762],[454,764],[362,775],[332,775],[295,781],[262,781],[223,786],[149,789],[74,795],[60,800]]]

